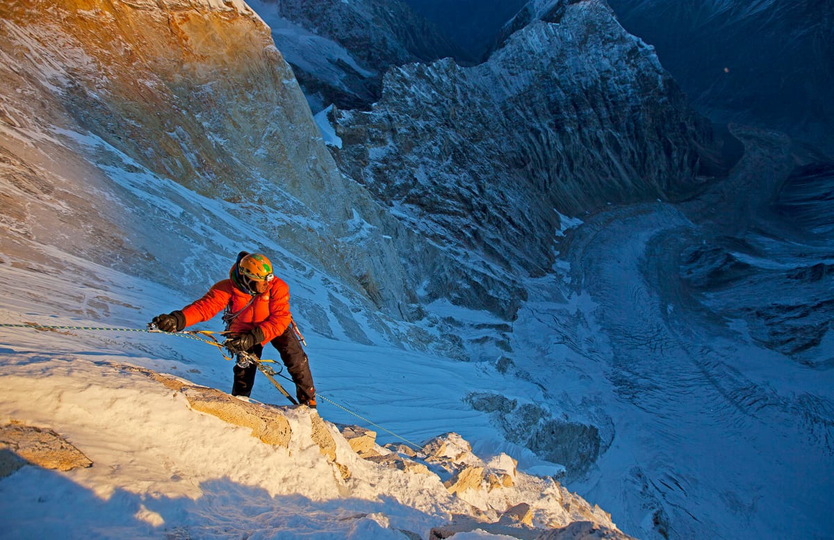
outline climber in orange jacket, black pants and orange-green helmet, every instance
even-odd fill
[[[154,317],[152,324],[163,332],[179,332],[192,324],[208,321],[224,308],[227,331],[224,347],[233,353],[253,353],[260,358],[264,345],[272,343],[293,378],[299,403],[315,408],[313,375],[289,313],[289,288],[275,277],[272,264],[264,255],[240,252],[228,279],[214,283],[203,298],[182,310]],[[233,396],[249,398],[257,370],[254,363],[238,356],[234,365]]]

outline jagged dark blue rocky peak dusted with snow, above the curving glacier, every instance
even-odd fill
[[[559,213],[684,198],[714,145],[605,2],[550,4],[487,62],[392,69],[370,112],[331,115],[344,171],[432,243],[489,268],[486,292],[473,283],[455,300],[510,316],[516,277],[550,266]],[[446,274],[432,273],[429,296]]]

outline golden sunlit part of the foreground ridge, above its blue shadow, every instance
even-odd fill
[[[236,486],[266,507],[276,501],[289,504],[289,498],[302,493],[303,508],[289,504],[285,515],[291,519],[313,513],[314,522],[327,527],[328,522],[373,512],[385,522],[384,528],[418,530],[422,535],[432,527],[452,525],[457,531],[484,528],[518,538],[535,537],[575,521],[615,528],[610,514],[553,478],[519,471],[505,454],[482,459],[455,433],[423,446],[409,443],[413,445],[409,452],[398,453],[374,443],[373,431],[337,427],[304,406],[250,403],[186,378],[100,357],[12,355],[8,369],[0,374],[3,414],[26,424],[0,428],[3,474],[17,474],[15,469],[27,464],[63,470],[88,467],[90,460],[83,457],[87,453],[96,463],[89,470],[73,472],[73,485],[85,487],[73,493],[90,486],[103,491],[127,485],[140,493],[164,493],[158,496],[163,502],[168,497],[176,501],[183,493],[193,493],[193,499],[233,493],[229,507],[251,504],[240,493],[234,494]],[[38,380],[34,386],[28,384],[33,378]],[[37,396],[31,388],[40,388]],[[341,407],[331,399],[322,403],[322,407],[330,405]],[[30,427],[36,423],[48,424],[55,432]],[[274,431],[264,436],[270,425]],[[57,433],[72,433],[77,448]],[[27,478],[33,477],[13,483],[27,483]],[[142,485],[137,485],[137,478]],[[217,478],[224,480],[216,483]],[[450,478],[472,481],[447,487]],[[48,482],[48,488],[63,485],[66,479],[55,477],[58,484]],[[272,488],[286,498],[270,493]],[[320,506],[306,507],[314,499]],[[217,507],[214,499],[208,502],[208,507]],[[123,512],[130,516],[136,512],[133,508]],[[198,515],[200,508],[183,508],[185,518],[166,519],[165,525],[184,526],[183,519]],[[275,527],[289,531],[292,525]],[[196,533],[196,527],[191,530]],[[367,533],[360,531],[359,536]]]

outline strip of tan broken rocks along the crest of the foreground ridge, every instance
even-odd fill
[[[553,478],[521,473],[515,460],[504,453],[487,460],[480,458],[458,433],[431,438],[421,448],[393,444],[381,447],[375,442],[374,431],[355,425],[334,426],[308,408],[248,403],[214,388],[200,387],[146,368],[113,368],[162,384],[184,396],[194,411],[251,428],[252,436],[266,444],[283,448],[293,444],[318,446],[319,454],[333,467],[336,482],[354,476],[352,468],[357,467],[352,464],[354,458],[340,453],[340,448],[349,448],[365,462],[376,463],[393,474],[406,475],[400,483],[415,482],[440,492],[445,488],[445,496],[464,502],[464,507],[470,506],[471,510],[437,527],[437,534],[446,535],[440,537],[480,528],[496,534],[534,538],[573,522],[590,522],[590,527],[595,529],[601,527],[600,530],[619,533],[610,514],[600,507],[591,506],[585,499],[568,492]],[[299,442],[299,438],[306,437],[310,438],[309,443]]]

